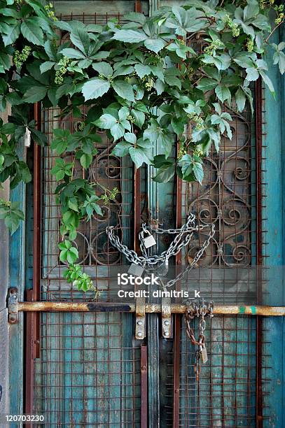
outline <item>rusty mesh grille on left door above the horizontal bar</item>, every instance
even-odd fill
[[[64,20],[80,19],[85,23],[104,24],[109,19],[122,21],[118,15],[64,15]],[[62,41],[66,40],[64,31],[61,32]],[[42,127],[48,136],[48,143],[53,137],[53,129],[68,129],[71,133],[81,127],[81,117],[92,117],[93,109],[81,107],[78,112],[67,112],[57,108],[48,108],[42,112]],[[109,266],[120,265],[123,260],[120,253],[113,248],[106,238],[106,226],[116,227],[117,233],[131,245],[133,224],[133,167],[130,159],[120,159],[111,154],[115,143],[107,138],[104,132],[99,133],[101,141],[95,143],[98,155],[90,165],[88,171],[82,169],[78,160],[74,163],[73,178],[88,178],[90,183],[97,183],[98,196],[104,194],[104,188],[119,191],[115,201],[110,204],[101,204],[103,217],[93,215],[90,221],[83,220],[78,228],[78,236],[74,245],[78,248],[78,263],[83,266],[99,290],[101,298],[110,299],[111,287],[109,284]],[[60,210],[56,204],[55,189],[57,183],[51,170],[57,155],[53,150],[45,149],[43,154],[43,254],[42,254],[42,299],[82,299],[82,292],[72,290],[71,285],[63,279],[65,266],[60,263],[57,243],[60,236]],[[64,160],[74,162],[74,154],[67,153]],[[98,279],[100,278],[100,279]],[[94,296],[93,296],[94,297]],[[92,295],[87,294],[92,299]]]

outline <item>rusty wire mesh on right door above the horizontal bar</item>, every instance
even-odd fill
[[[203,37],[190,38],[195,50],[202,52]],[[262,100],[260,100],[260,103]],[[215,234],[204,251],[198,267],[191,271],[182,288],[200,290],[205,299],[219,304],[252,302],[262,296],[265,279],[258,283],[257,182],[255,117],[249,104],[242,113],[235,105],[223,106],[232,120],[229,136],[221,136],[218,152],[211,148],[204,159],[204,179],[199,183],[183,183],[182,217],[196,216],[199,224],[215,225]],[[188,138],[192,128],[188,127]],[[259,227],[259,229],[258,229]],[[259,231],[258,231],[259,230]],[[188,245],[184,263],[190,264],[207,239],[209,231],[194,236]],[[260,258],[259,258],[260,259]],[[259,290],[258,290],[259,287]],[[261,301],[259,301],[261,303]]]

